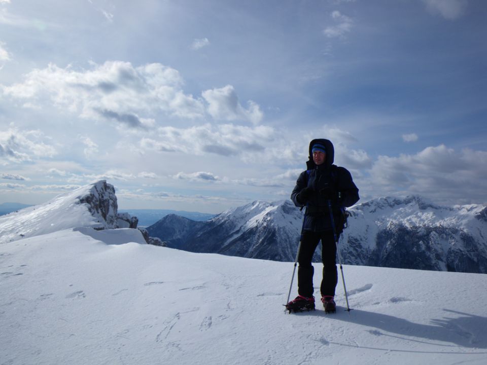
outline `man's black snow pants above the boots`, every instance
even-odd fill
[[[315,288],[313,287],[314,268],[311,265],[311,261],[320,240],[323,261],[321,295],[335,296],[335,287],[338,282],[336,244],[333,230],[329,230],[324,232],[303,232],[298,256],[298,294],[303,297],[312,297],[315,292]]]

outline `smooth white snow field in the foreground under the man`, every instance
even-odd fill
[[[118,244],[115,244],[118,243]],[[484,364],[487,276],[344,266],[285,314],[293,263],[70,229],[0,245],[0,364]],[[296,277],[292,298],[296,296]]]

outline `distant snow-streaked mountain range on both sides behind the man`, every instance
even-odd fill
[[[349,227],[338,245],[344,264],[487,273],[483,205],[447,207],[419,196],[385,197],[349,211]],[[147,231],[188,251],[294,261],[302,214],[291,201],[256,201],[207,222],[169,214]]]

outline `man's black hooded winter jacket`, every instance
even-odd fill
[[[326,159],[321,165],[316,165],[312,158],[312,147],[322,144],[326,148]],[[331,201],[335,224],[340,222],[341,209],[349,207],[359,201],[359,189],[354,184],[352,175],[344,167],[333,165],[335,150],[333,143],[328,139],[313,139],[309,143],[309,159],[306,162],[307,170],[301,172],[296,186],[291,193],[291,199],[297,207],[306,206],[303,229],[307,231],[322,232],[331,230],[331,218],[328,202]],[[303,202],[299,193],[304,188],[312,190],[310,198]],[[324,196],[323,189],[333,190],[335,193]]]

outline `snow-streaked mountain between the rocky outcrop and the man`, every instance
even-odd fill
[[[254,201],[207,222],[180,223],[166,216],[147,230],[173,248],[283,261],[296,252],[302,212],[289,200]]]

